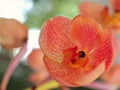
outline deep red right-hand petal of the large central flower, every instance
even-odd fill
[[[103,60],[106,63],[106,70],[110,67],[113,61],[113,46],[112,46],[112,37],[110,32],[106,32],[104,35],[104,40],[100,44],[100,46],[96,47],[95,50],[91,53],[91,65],[96,67]],[[94,59],[94,60],[93,60]]]

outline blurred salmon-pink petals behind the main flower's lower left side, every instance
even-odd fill
[[[40,48],[34,49],[28,56],[28,64],[31,69],[34,70],[34,73],[30,75],[29,80],[34,85],[39,85],[44,81],[48,76],[48,71],[43,62],[43,53]]]

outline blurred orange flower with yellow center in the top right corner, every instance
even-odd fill
[[[95,2],[81,2],[79,10],[96,19],[104,28],[120,33],[120,0],[109,0],[113,13],[108,6]]]

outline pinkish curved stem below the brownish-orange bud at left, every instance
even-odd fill
[[[2,79],[2,83],[1,83],[1,89],[0,90],[6,90],[8,81],[10,79],[11,74],[13,73],[13,71],[15,70],[15,68],[19,65],[19,61],[20,59],[24,56],[24,54],[27,51],[27,44],[25,43],[20,51],[18,52],[18,54],[10,61],[9,66],[3,76]]]

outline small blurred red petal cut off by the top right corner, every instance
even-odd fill
[[[115,12],[120,12],[120,0],[109,0],[109,2]]]

